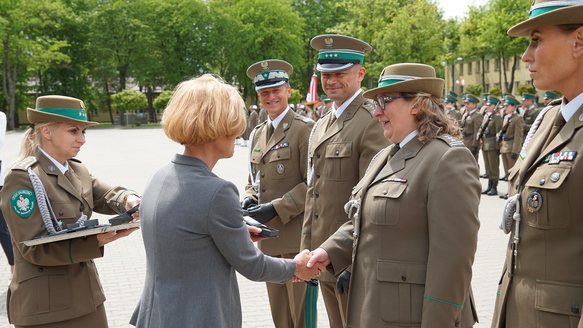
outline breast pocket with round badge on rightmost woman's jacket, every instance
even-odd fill
[[[563,164],[536,168],[522,191],[521,216],[526,224],[538,229],[566,229],[571,225],[570,171],[571,166]]]

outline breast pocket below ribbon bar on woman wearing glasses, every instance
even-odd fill
[[[364,215],[375,225],[396,225],[399,223],[402,194],[406,183],[385,182],[367,191]]]

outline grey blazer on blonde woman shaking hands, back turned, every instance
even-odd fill
[[[241,327],[235,270],[279,284],[296,270],[253,245],[237,188],[198,158],[176,154],[154,172],[140,217],[146,280],[130,320],[136,327]]]

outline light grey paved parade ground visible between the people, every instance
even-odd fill
[[[6,134],[0,154],[4,163],[11,163],[20,147],[21,132]],[[121,184],[142,193],[149,176],[160,166],[168,163],[174,153],[182,152],[181,145],[168,139],[160,128],[117,129],[89,128],[87,143],[78,159],[94,176],[110,184]],[[235,146],[233,158],[219,160],[213,172],[230,180],[240,193],[247,183],[247,148]],[[480,155],[480,168],[483,160]],[[503,172],[503,169],[500,169]],[[480,179],[485,187],[487,180]],[[507,189],[501,182],[500,194]],[[459,204],[463,206],[463,204]],[[476,328],[490,327],[496,288],[502,266],[508,235],[498,225],[501,220],[504,200],[493,196],[482,196],[480,203],[480,232],[476,259],[473,264],[472,287],[480,323]],[[108,216],[94,214],[94,218],[107,221]],[[163,228],[163,227],[161,227]],[[0,263],[6,257],[0,252]],[[136,303],[142,294],[145,278],[145,252],[140,231],[106,246],[104,257],[96,259],[97,270],[107,296],[105,303],[110,327],[132,327],[128,324]],[[0,266],[0,328],[13,327],[6,317],[6,289],[9,285],[8,264]],[[273,327],[265,284],[249,281],[238,275],[243,327]],[[204,281],[198,283],[203,284]],[[363,309],[366,310],[366,309]],[[318,298],[318,327],[329,327],[328,317],[321,295]]]

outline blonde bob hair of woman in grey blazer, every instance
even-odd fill
[[[200,147],[240,135],[247,125],[247,110],[237,89],[219,75],[205,74],[176,86],[160,124],[168,138]]]

